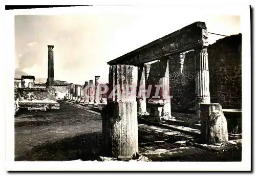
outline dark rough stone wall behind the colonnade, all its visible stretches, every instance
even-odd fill
[[[242,108],[241,40],[241,34],[232,35],[208,47],[211,102],[223,108]],[[169,59],[172,111],[195,111],[195,59],[194,51]],[[146,89],[149,84],[158,84],[161,71],[159,61],[150,64]]]

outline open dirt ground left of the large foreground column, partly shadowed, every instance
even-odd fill
[[[58,110],[17,114],[15,160],[89,159],[92,153],[99,152],[101,117],[59,103]]]

